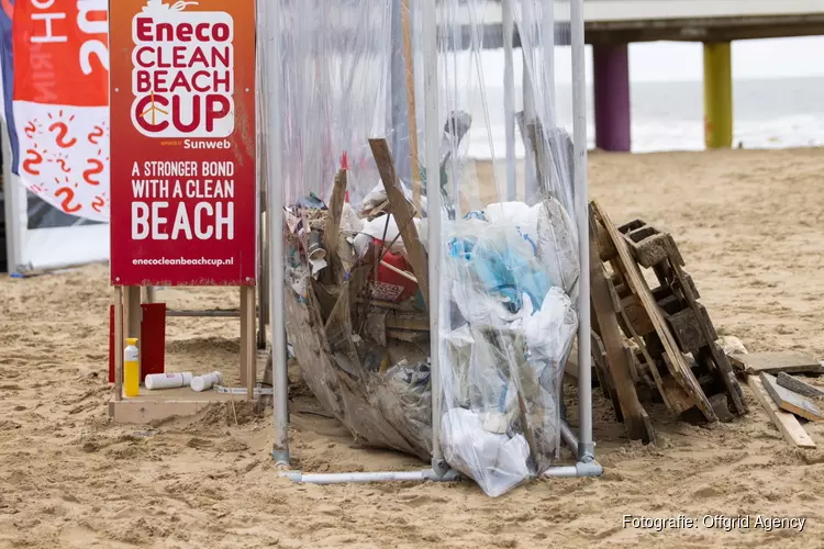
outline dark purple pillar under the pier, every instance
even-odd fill
[[[592,46],[595,102],[595,146],[628,152],[630,51],[627,44]]]

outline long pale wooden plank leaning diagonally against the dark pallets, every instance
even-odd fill
[[[649,290],[649,287],[641,274],[638,266],[633,260],[626,243],[617,232],[617,228],[615,228],[615,225],[612,224],[606,213],[599,206],[598,202],[592,201],[591,206],[594,214],[606,228],[610,238],[612,238],[612,242],[615,245],[615,249],[619,253],[616,261],[619,261],[619,265],[626,274],[627,283],[630,284],[632,290],[641,298],[641,301],[644,304],[644,309],[647,310],[649,320],[655,326],[655,332],[660,338],[665,351],[667,352],[667,355],[669,355],[670,361],[668,362],[668,366],[671,366],[672,377],[681,385],[681,388],[683,388],[689,394],[691,394],[691,396],[695,400],[695,404],[698,405],[699,410],[704,414],[704,417],[706,417],[709,422],[717,421],[717,416],[712,410],[712,404],[710,404],[710,401],[706,399],[704,391],[701,389],[700,383],[695,379],[695,376],[692,373],[690,366],[687,363],[683,355],[681,355],[681,351],[678,349],[678,344],[676,344],[672,334],[669,332],[669,327],[666,325],[664,318],[661,318],[658,305],[653,298],[653,292]]]

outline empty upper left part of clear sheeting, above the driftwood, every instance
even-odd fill
[[[392,0],[272,0],[280,4],[281,135],[287,204],[329,198],[338,168],[357,203],[378,183],[367,139],[390,133]],[[269,8],[272,9],[272,8]]]

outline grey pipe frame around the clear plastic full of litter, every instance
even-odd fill
[[[575,466],[554,467],[544,477],[598,477],[603,470],[594,460],[594,444],[592,441],[592,365],[590,355],[590,314],[589,314],[589,201],[587,184],[587,119],[586,119],[586,71],[583,48],[583,0],[571,0],[571,43],[572,43],[572,104],[574,104],[574,149],[575,149],[575,201],[578,220],[578,245],[581,274],[579,278],[578,296],[578,400],[580,438],[566,424],[561,423],[561,437],[576,453],[578,462]],[[280,13],[278,2],[261,2],[260,19],[263,20],[264,42],[269,46],[261,48],[268,52],[265,65],[280,63]],[[436,35],[435,0],[422,0],[423,15],[423,56],[424,56],[424,112],[426,121],[426,144],[424,163],[427,171],[436,172],[438,166],[439,124],[438,120],[438,81],[437,81],[437,35]],[[271,78],[271,76],[270,76]],[[281,150],[280,146],[280,78],[275,76],[268,93],[266,110],[266,128],[271,139],[268,149]],[[514,156],[508,157],[510,164]],[[280,154],[268,155],[267,179],[269,182],[280,180]],[[271,287],[270,314],[272,334],[272,380],[275,383],[275,413],[272,458],[277,464],[289,466],[288,438],[288,401],[287,401],[287,365],[285,337],[283,307],[283,195],[274,192],[278,186],[270,184],[269,224],[271,246]],[[280,186],[282,189],[282,186]],[[441,267],[441,192],[437,186],[427,186],[426,199],[430,203],[428,249],[430,249],[430,322],[431,322],[431,371],[432,371],[432,469],[421,471],[400,472],[366,472],[366,473],[327,473],[303,474],[298,471],[283,471],[294,482],[314,484],[338,484],[354,482],[410,482],[410,481],[453,481],[458,473],[448,468],[441,449],[441,378],[439,378],[439,267]]]

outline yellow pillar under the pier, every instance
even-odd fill
[[[704,143],[733,146],[733,70],[730,42],[704,43]]]

